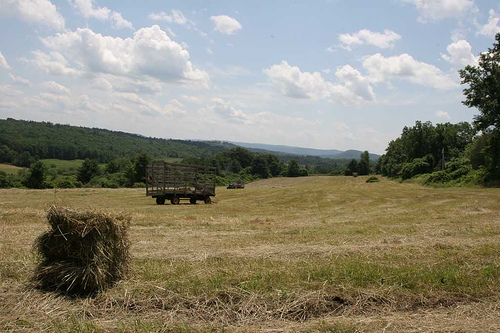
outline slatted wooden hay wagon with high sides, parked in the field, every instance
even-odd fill
[[[158,161],[146,168],[146,195],[155,198],[158,205],[166,200],[178,205],[182,199],[210,204],[215,196],[214,179],[213,167]]]

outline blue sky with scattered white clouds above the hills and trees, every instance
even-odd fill
[[[0,117],[383,153],[471,121],[490,0],[0,0]]]

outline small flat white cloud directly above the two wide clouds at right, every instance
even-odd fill
[[[381,49],[392,48],[399,39],[401,39],[401,35],[389,29],[385,29],[383,33],[362,29],[352,34],[339,35],[340,47],[346,50],[363,44],[373,45]]]

